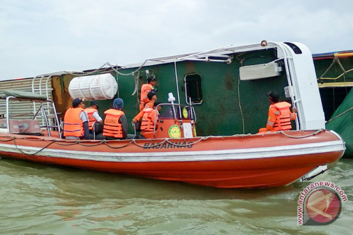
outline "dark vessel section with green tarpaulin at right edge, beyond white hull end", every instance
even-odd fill
[[[353,157],[353,51],[313,54],[326,128],[346,142],[345,157]]]

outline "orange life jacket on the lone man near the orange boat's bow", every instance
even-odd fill
[[[289,108],[292,105],[283,101],[275,104],[271,104],[270,107],[276,108],[280,111],[280,114],[277,115],[276,121],[273,124],[274,131],[281,131],[281,130],[291,130],[291,110]]]

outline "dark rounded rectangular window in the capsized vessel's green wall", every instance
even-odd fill
[[[201,76],[199,74],[188,74],[184,78],[186,104],[202,104]]]

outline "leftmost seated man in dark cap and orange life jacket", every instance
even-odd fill
[[[83,100],[76,98],[72,101],[72,107],[66,111],[64,116],[65,138],[89,140],[88,115],[83,108]]]

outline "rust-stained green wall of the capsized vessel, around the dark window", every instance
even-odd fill
[[[268,63],[276,59],[274,49],[252,51],[244,55],[234,54],[233,56],[234,59],[230,64],[203,61],[177,62],[181,104],[186,105],[184,77],[188,74],[201,76],[203,101],[202,104],[194,105],[197,113],[196,130],[199,136],[257,133],[258,129],[264,127],[267,122],[268,91],[276,91],[281,94],[282,99],[286,100],[283,87],[288,86],[288,82],[284,73],[270,79],[239,82],[241,60],[244,60],[243,66]],[[136,68],[119,69],[119,72],[127,74],[134,70]],[[146,83],[145,70],[149,70],[150,74],[157,78],[155,88],[159,101],[168,103],[169,92],[173,92],[177,97],[174,63],[142,67],[139,70],[138,89],[141,84]],[[116,97],[124,100],[123,110],[127,119],[132,120],[138,113],[137,100],[140,94],[138,91],[138,95],[132,95],[135,87],[133,76],[122,76],[116,72],[111,72],[111,74],[118,81],[119,91]],[[72,99],[68,94],[68,85],[72,78],[73,75],[53,78],[53,97],[56,104],[59,104],[58,112],[64,113],[71,105]],[[291,102],[288,99],[287,101]],[[178,102],[178,98],[176,102]],[[100,115],[104,116],[104,110],[112,107],[112,100],[100,100],[98,104]],[[133,130],[130,129],[130,132]]]

